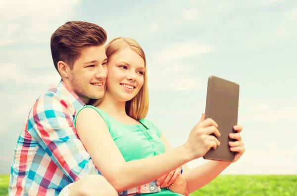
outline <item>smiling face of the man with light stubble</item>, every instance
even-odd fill
[[[82,51],[69,71],[70,87],[84,103],[104,96],[106,65],[104,46],[91,46]]]

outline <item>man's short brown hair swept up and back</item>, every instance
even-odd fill
[[[51,36],[50,50],[54,67],[64,61],[73,69],[74,62],[81,51],[89,46],[104,45],[107,35],[104,29],[96,24],[83,21],[69,21],[60,26]]]

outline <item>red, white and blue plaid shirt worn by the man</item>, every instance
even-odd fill
[[[63,81],[41,95],[17,140],[9,196],[57,196],[68,184],[100,174],[74,129],[76,111],[85,104]],[[155,183],[119,195],[160,192]]]

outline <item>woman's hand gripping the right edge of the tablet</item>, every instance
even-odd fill
[[[240,132],[243,130],[243,126],[235,125],[233,127],[237,133],[230,133],[229,137],[235,139],[234,142],[229,142],[230,151],[236,152],[235,157],[232,162],[236,162],[246,151],[245,144],[242,142]]]

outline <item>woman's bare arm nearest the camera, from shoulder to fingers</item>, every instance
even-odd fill
[[[212,128],[209,128],[210,126]],[[152,182],[184,163],[203,156],[210,148],[217,145],[209,135],[211,133],[219,135],[215,126],[213,120],[204,120],[194,127],[183,146],[155,157],[125,162],[107,125],[97,111],[85,108],[76,118],[79,138],[101,174],[117,191]],[[204,139],[206,135],[209,140]]]

